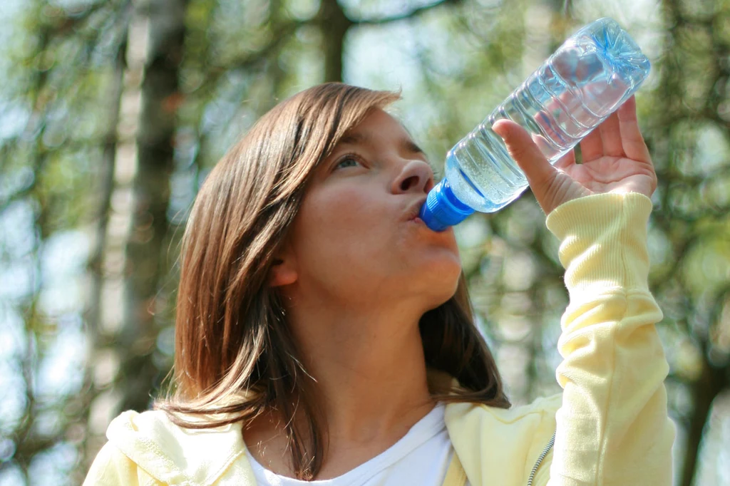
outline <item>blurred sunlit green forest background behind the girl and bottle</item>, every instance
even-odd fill
[[[188,210],[228,147],[324,81],[402,89],[437,177],[448,148],[589,21],[652,61],[652,290],[675,484],[730,485],[730,0],[1,0],[0,486],[79,485],[172,364]],[[458,226],[510,398],[559,387],[567,304],[529,191]]]

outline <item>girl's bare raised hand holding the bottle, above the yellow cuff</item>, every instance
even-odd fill
[[[512,120],[498,120],[492,129],[525,172],[545,214],[591,194],[633,192],[651,197],[656,189],[656,172],[639,131],[634,96],[580,142],[581,164],[575,163],[571,150],[551,166],[529,133]]]

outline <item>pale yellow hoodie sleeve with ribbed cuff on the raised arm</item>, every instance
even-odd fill
[[[670,485],[675,428],[669,365],[648,288],[651,201],[638,193],[579,198],[550,213],[570,303],[561,319],[550,486]]]

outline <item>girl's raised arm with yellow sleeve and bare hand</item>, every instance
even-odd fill
[[[629,100],[550,166],[510,122],[495,124],[561,240],[570,304],[561,320],[564,388],[548,485],[669,485],[675,428],[669,369],[648,289],[646,226],[656,174]]]

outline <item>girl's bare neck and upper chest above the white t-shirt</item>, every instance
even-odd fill
[[[289,304],[288,327],[316,380],[326,420],[325,457],[316,479],[337,477],[391,447],[433,408],[418,330],[425,310],[404,301],[391,301],[380,312],[352,302],[335,309],[331,300],[315,298],[292,298]],[[256,460],[293,477],[282,419],[269,410],[247,424],[244,438]],[[306,423],[301,425],[305,431]]]

